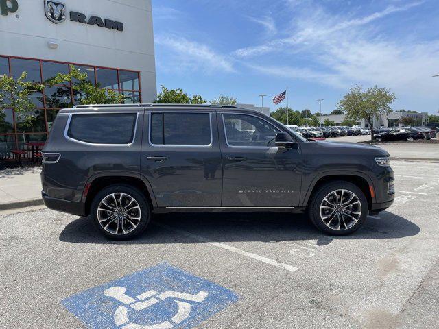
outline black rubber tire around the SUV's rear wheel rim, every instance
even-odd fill
[[[135,222],[131,221],[130,223],[128,223],[128,221],[126,221],[126,220],[123,221],[123,223],[127,223],[128,228],[133,227],[131,225],[131,223],[133,223],[133,222],[138,223],[134,229],[130,230],[126,234],[123,233],[123,232],[125,232],[124,230],[123,230],[123,232],[120,232],[119,226],[117,226],[117,232],[120,232],[119,234],[114,234],[114,233],[108,232],[108,230],[105,230],[104,227],[102,227],[102,225],[99,223],[98,214],[97,214],[97,211],[98,211],[97,209],[99,207],[99,204],[101,204],[101,202],[104,199],[106,199],[106,197],[108,197],[109,195],[112,195],[114,193],[116,195],[120,195],[120,193],[123,193],[123,195],[128,195],[129,197],[132,197],[135,200],[135,202],[137,202],[137,204],[139,204],[139,208],[140,208],[139,218],[140,218],[140,220],[135,221]],[[126,201],[126,202],[128,202],[128,201]],[[110,205],[110,206],[112,206],[112,205]],[[123,204],[123,206],[124,206],[124,204]],[[110,210],[110,208],[108,208],[108,209]],[[110,215],[109,212],[108,212],[108,215]],[[93,199],[93,202],[91,204],[91,218],[93,219],[93,223],[95,224],[97,230],[99,230],[99,232],[101,232],[108,239],[117,240],[117,241],[130,240],[130,239],[133,239],[135,236],[139,236],[139,234],[143,233],[145,231],[145,229],[147,228],[147,226],[151,220],[151,208],[147,202],[147,199],[145,198],[145,195],[143,195],[141,193],[141,191],[139,191],[137,188],[134,188],[130,185],[117,184],[117,185],[108,186],[108,187],[104,188],[102,191],[100,191],[99,193],[97,193],[97,195],[95,196],[95,198]],[[121,217],[119,217],[119,218],[121,218]],[[123,219],[121,219],[121,220],[123,220]],[[106,222],[106,223],[108,223],[108,222]],[[115,223],[117,223],[117,219],[116,219]],[[122,222],[120,222],[120,223],[122,223]],[[118,224],[119,223],[117,223],[117,225]]]

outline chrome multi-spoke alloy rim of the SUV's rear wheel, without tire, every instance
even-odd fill
[[[99,225],[110,234],[132,232],[141,221],[141,209],[134,197],[126,193],[112,193],[97,207]]]

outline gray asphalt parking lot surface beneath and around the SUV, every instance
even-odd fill
[[[305,216],[276,213],[162,215],[124,243],[102,238],[88,219],[47,209],[0,216],[0,328],[93,328],[80,318],[104,321],[104,305],[77,317],[67,306],[95,300],[65,300],[156,265],[233,293],[178,328],[437,328],[439,163],[392,167],[394,205],[340,238]],[[198,280],[152,273],[152,281]],[[180,283],[172,284],[184,293]],[[164,320],[154,307],[154,319]]]

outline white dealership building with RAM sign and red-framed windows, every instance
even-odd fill
[[[0,0],[0,75],[45,84],[73,64],[126,103],[156,98],[151,0]],[[60,108],[78,103],[69,84],[34,93],[36,121],[26,127],[0,112],[0,159],[25,143],[45,141]]]

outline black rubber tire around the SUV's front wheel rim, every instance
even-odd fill
[[[361,204],[361,215],[357,215],[357,216],[359,216],[359,218],[357,219],[357,222],[355,224],[353,224],[353,226],[349,226],[348,228],[346,228],[346,224],[344,224],[345,227],[342,226],[342,228],[343,228],[342,230],[335,230],[335,229],[327,226],[327,224],[324,223],[322,216],[320,215],[320,206],[322,205],[322,202],[324,202],[324,198],[327,197],[329,195],[329,193],[331,193],[333,191],[338,191],[338,190],[346,190],[346,191],[353,193],[354,195],[357,196],[357,198],[359,199],[359,202]],[[335,211],[335,210],[333,210],[333,211]],[[358,212],[360,212],[360,211],[358,211]],[[309,219],[311,220],[311,223],[313,223],[313,225],[316,226],[316,228],[318,228],[322,232],[325,232],[329,235],[335,235],[335,236],[348,235],[348,234],[355,232],[359,228],[361,228],[361,226],[363,226],[364,222],[366,221],[366,217],[368,216],[368,212],[369,212],[368,202],[367,202],[366,196],[361,191],[361,189],[355,184],[352,184],[352,183],[346,182],[346,181],[342,181],[342,180],[329,182],[327,184],[324,184],[324,185],[318,187],[318,190],[315,191],[315,193],[313,193],[313,197],[311,197],[311,200],[310,200],[309,206],[308,206],[308,215],[309,215]],[[335,219],[335,220],[337,221],[340,219]],[[349,221],[351,221],[351,220],[349,220]],[[343,219],[343,222],[344,222],[344,219]],[[351,222],[354,223],[355,221],[351,221]]]

